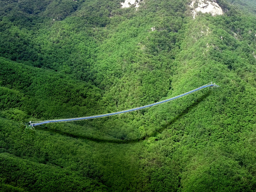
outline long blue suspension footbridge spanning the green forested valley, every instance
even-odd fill
[[[163,103],[166,103],[166,102],[178,99],[178,98],[182,98],[182,97],[184,97],[186,95],[192,94],[194,92],[197,92],[197,91],[202,90],[202,89],[207,88],[207,87],[219,87],[219,86],[216,85],[215,83],[210,82],[208,84],[200,86],[200,87],[198,87],[198,88],[196,88],[194,90],[191,90],[189,92],[183,93],[181,95],[178,95],[178,96],[175,96],[175,97],[163,100],[163,101],[159,101],[159,102],[156,102],[156,103],[153,103],[153,104],[148,104],[148,105],[145,105],[145,106],[141,106],[141,107],[136,107],[136,108],[132,108],[132,109],[128,109],[128,110],[112,112],[112,113],[107,113],[107,114],[87,116],[87,117],[78,117],[78,118],[69,118],[69,119],[57,119],[57,120],[45,120],[45,121],[30,121],[28,126],[34,127],[34,126],[42,125],[42,124],[46,124],[46,123],[60,123],[60,122],[69,122],[69,121],[80,121],[80,120],[86,120],[86,119],[95,119],[95,118],[108,117],[108,116],[112,116],[112,115],[119,115],[119,114],[128,113],[128,112],[132,112],[132,111],[142,110],[142,109],[149,108],[149,107],[152,107],[152,106],[156,106],[156,105],[159,105],[159,104],[163,104]]]

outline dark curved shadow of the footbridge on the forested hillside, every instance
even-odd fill
[[[174,123],[177,120],[179,120],[180,118],[182,118],[184,115],[186,115],[188,112],[190,112],[190,110],[195,108],[200,102],[204,101],[210,95],[210,92],[211,91],[208,90],[204,95],[202,95],[200,98],[198,98],[192,104],[190,104],[184,110],[182,110],[182,112],[180,112],[180,114],[178,114],[172,120],[167,122],[160,130],[156,130],[151,135],[147,135],[147,136],[145,136],[143,138],[127,139],[127,140],[125,140],[125,139],[124,140],[121,140],[121,139],[105,139],[105,138],[94,138],[92,136],[76,135],[76,134],[69,133],[69,132],[64,132],[64,131],[61,131],[61,130],[55,130],[55,129],[47,127],[47,126],[38,126],[36,129],[38,129],[38,130],[46,130],[46,131],[48,131],[48,132],[50,132],[52,134],[60,134],[62,136],[68,136],[68,137],[77,138],[77,139],[91,140],[91,141],[95,141],[95,142],[109,142],[109,143],[117,143],[117,144],[135,143],[135,142],[139,142],[139,141],[145,140],[148,137],[155,136],[156,134],[162,133],[172,123]]]

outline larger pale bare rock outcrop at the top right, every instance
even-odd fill
[[[218,5],[216,0],[192,0],[190,7],[193,8],[193,18],[198,12],[210,13],[214,15],[222,15],[222,8]]]

